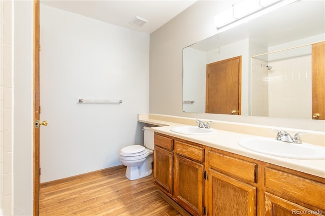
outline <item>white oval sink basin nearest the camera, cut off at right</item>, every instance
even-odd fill
[[[267,155],[300,160],[324,160],[325,147],[308,143],[291,143],[274,138],[246,138],[238,141],[238,145]]]

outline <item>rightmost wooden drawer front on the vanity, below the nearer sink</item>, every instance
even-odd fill
[[[269,167],[265,168],[265,186],[267,189],[325,209],[325,184],[307,177]]]

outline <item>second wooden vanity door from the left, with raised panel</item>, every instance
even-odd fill
[[[203,215],[204,165],[174,156],[174,199],[192,215]]]

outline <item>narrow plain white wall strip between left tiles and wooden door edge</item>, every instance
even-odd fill
[[[14,6],[13,214],[32,215],[33,2]]]

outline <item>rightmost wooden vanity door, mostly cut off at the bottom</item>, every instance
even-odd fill
[[[323,215],[323,211],[311,210],[296,203],[265,192],[265,216]]]

